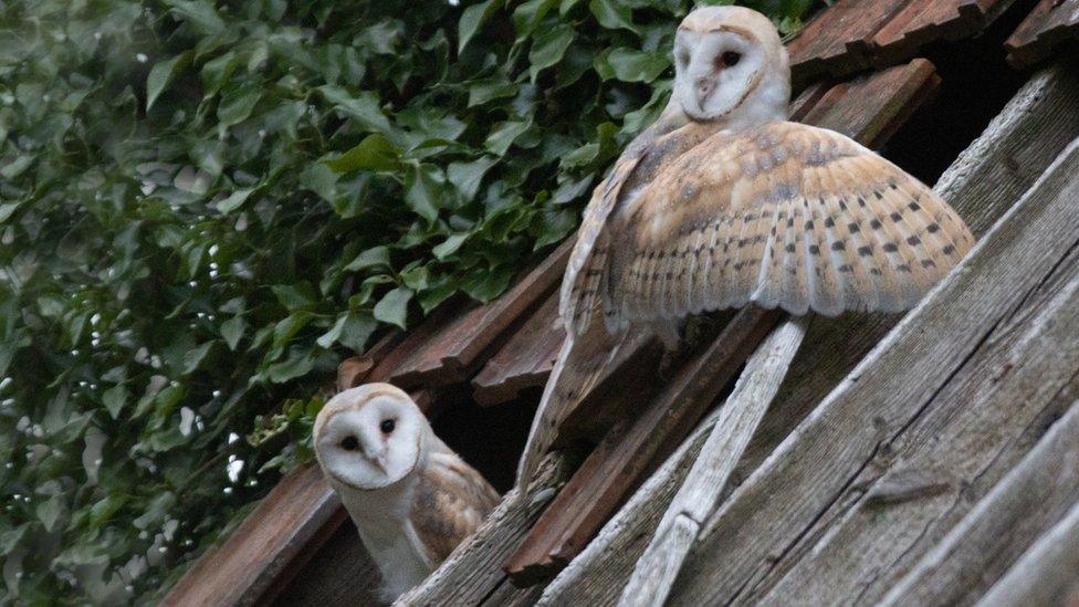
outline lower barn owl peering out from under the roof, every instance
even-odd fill
[[[499,494],[389,384],[345,390],[315,419],[315,456],[394,600],[472,534]]]

